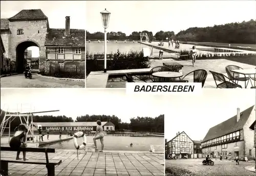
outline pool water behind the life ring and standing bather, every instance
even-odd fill
[[[82,144],[82,138],[77,140]],[[87,136],[87,143],[93,143],[93,136]],[[130,147],[133,143],[133,147]],[[129,136],[104,136],[104,150],[126,150],[126,151],[149,151],[151,145],[164,145],[163,137],[129,137]],[[44,148],[55,149],[75,149],[73,139],[44,146]],[[100,141],[97,140],[98,149],[101,148]]]

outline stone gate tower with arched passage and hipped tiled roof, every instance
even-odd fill
[[[48,17],[40,9],[22,10],[11,18],[1,19],[5,57],[10,58],[16,72],[24,71],[26,65],[24,52],[32,46],[39,48],[39,70],[44,69],[45,40],[48,31]]]

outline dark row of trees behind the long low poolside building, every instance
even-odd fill
[[[5,111],[1,109],[1,123],[5,116]],[[160,115],[156,118],[152,117],[137,117],[131,118],[131,123],[121,122],[117,116],[107,116],[107,115],[85,115],[76,118],[76,122],[96,122],[108,121],[115,125],[116,130],[132,130],[132,131],[150,131],[155,133],[164,133],[164,116]],[[71,117],[66,116],[33,116],[33,122],[74,122]],[[25,121],[23,122],[25,123]],[[20,124],[20,119],[15,118],[11,122],[11,130],[14,130],[16,126]],[[9,124],[8,124],[9,125]]]

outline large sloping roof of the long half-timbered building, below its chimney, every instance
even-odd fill
[[[245,123],[247,122],[251,112],[253,111],[254,105],[245,109],[240,114],[240,120],[237,122],[237,115],[231,117],[230,119],[211,127],[208,133],[202,140],[202,142],[208,141],[210,139],[219,138],[223,135],[233,133],[234,131],[243,129]]]

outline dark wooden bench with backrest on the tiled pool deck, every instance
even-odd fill
[[[48,170],[48,176],[55,175],[55,166],[59,165],[62,161],[61,160],[50,160],[48,159],[48,153],[55,153],[54,148],[19,148],[14,149],[11,147],[1,147],[1,151],[26,151],[26,152],[44,152],[46,153],[46,160],[34,160],[29,159],[27,161],[24,160],[16,160],[16,156],[14,158],[2,158],[1,157],[1,172],[2,170],[8,174],[8,163],[23,163],[23,164],[39,164],[39,165],[46,165]],[[22,155],[22,154],[20,154]]]

